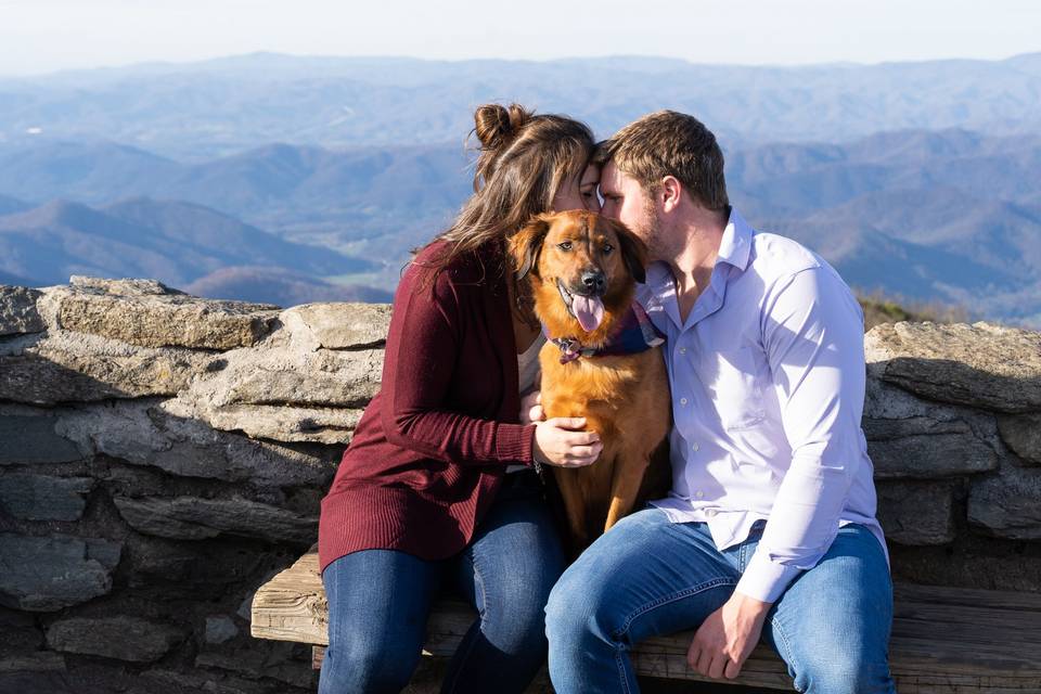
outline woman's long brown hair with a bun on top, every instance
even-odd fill
[[[589,127],[566,116],[536,115],[518,104],[485,104],[474,113],[480,155],[474,194],[435,241],[447,242],[432,259],[440,272],[460,255],[516,233],[550,209],[553,196],[581,176],[595,149]],[[504,270],[502,268],[501,270]]]

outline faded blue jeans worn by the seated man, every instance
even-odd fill
[[[644,509],[622,518],[561,577],[547,605],[550,678],[558,694],[639,692],[629,650],[698,627],[730,599],[762,536],[722,552],[704,523]],[[878,540],[841,528],[824,558],[773,604],[763,639],[799,692],[895,692],[889,677],[892,583]]]

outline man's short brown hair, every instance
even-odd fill
[[[618,170],[654,192],[666,176],[708,209],[730,205],[723,153],[701,120],[676,111],[657,111],[633,120],[600,143],[595,162],[614,162]]]

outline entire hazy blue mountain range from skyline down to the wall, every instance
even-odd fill
[[[306,125],[348,89],[349,117]],[[757,228],[863,291],[1041,326],[1039,95],[1041,54],[807,68],[261,54],[0,80],[0,282],[387,298],[471,192],[474,104],[505,97],[599,136],[660,106],[719,118],[731,200]],[[59,103],[75,128],[10,125],[34,108],[63,121]]]

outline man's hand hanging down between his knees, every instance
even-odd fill
[[[690,666],[706,677],[732,680],[759,643],[771,603],[734,593],[702,624],[686,652]]]

